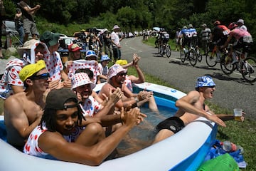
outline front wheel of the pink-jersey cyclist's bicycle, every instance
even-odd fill
[[[236,68],[236,65],[232,65],[231,63],[232,63],[232,58],[228,56],[228,54],[224,54],[220,58],[221,71],[223,71],[223,73],[225,73],[226,75],[230,75],[231,73],[233,73],[233,71]]]

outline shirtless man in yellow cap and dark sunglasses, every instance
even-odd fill
[[[26,90],[6,98],[4,120],[7,142],[22,151],[28,135],[40,123],[45,107],[43,95],[49,90],[50,76],[43,60],[23,67],[19,76]]]

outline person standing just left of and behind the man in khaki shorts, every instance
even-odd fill
[[[20,8],[16,9],[14,21],[15,21],[15,29],[16,29],[16,31],[18,31],[18,35],[19,35],[19,43],[20,43],[20,46],[22,46],[23,45],[23,37],[24,37],[25,33],[24,33],[24,28],[23,28],[22,12],[21,12]]]

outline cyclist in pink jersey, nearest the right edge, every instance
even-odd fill
[[[231,64],[237,63],[238,59],[235,54],[235,50],[238,48],[242,48],[242,56],[241,58],[245,58],[245,52],[248,52],[250,46],[252,45],[252,36],[251,34],[243,28],[238,28],[238,24],[234,22],[231,23],[228,28],[231,30],[228,36],[227,41],[223,47],[227,47],[228,43],[232,38],[235,38],[233,46],[230,48],[230,53],[232,53],[233,62]]]

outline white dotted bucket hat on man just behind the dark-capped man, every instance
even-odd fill
[[[72,79],[72,89],[78,88],[90,83],[91,89],[95,88],[95,84],[90,81],[87,73],[75,73]]]

